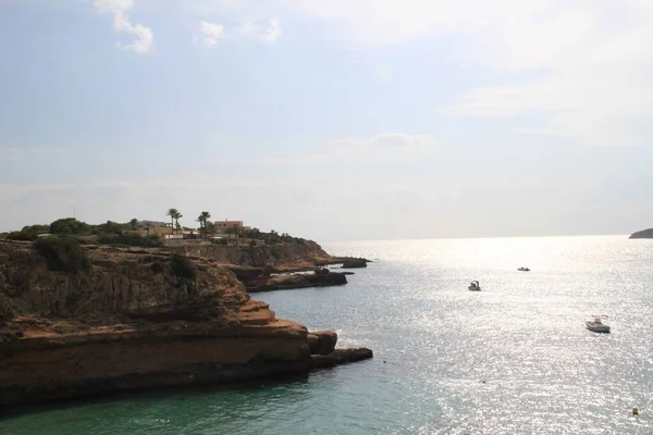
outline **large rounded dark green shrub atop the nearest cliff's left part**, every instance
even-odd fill
[[[76,273],[90,266],[86,250],[71,237],[41,237],[34,243],[34,248],[51,271]]]

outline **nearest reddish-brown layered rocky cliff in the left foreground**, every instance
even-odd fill
[[[371,357],[334,352],[331,336],[276,319],[212,260],[108,247],[54,254],[0,241],[0,407]]]

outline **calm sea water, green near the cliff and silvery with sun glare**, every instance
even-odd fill
[[[324,247],[378,261],[347,286],[256,297],[337,331],[341,346],[372,348],[373,360],[283,383],[34,410],[0,421],[0,434],[653,433],[653,240]],[[483,291],[468,291],[471,279]],[[612,334],[584,328],[593,313],[609,315]]]

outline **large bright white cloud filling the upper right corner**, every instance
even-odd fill
[[[476,69],[488,67],[503,77],[469,88],[446,108],[449,114],[540,114],[531,132],[609,145],[637,144],[641,135],[632,125],[653,117],[651,1],[280,0],[279,4],[299,16],[334,24],[334,34],[348,45],[381,48],[446,36],[461,63],[471,60]]]

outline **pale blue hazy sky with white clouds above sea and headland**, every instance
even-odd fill
[[[0,0],[0,231],[653,226],[651,0]]]

